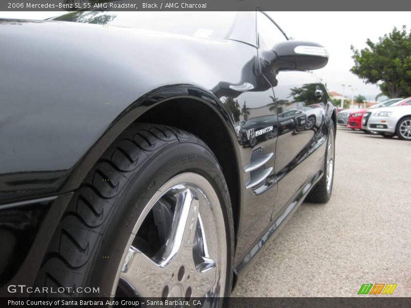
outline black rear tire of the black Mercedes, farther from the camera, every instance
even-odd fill
[[[327,188],[327,156],[328,156],[328,144],[331,141],[330,137],[332,138],[332,176],[331,176],[331,185],[330,189]],[[326,203],[331,198],[332,193],[332,185],[334,182],[334,158],[335,158],[335,132],[334,132],[334,123],[331,120],[330,129],[328,132],[328,139],[327,139],[327,146],[325,150],[324,156],[324,174],[320,181],[318,181],[315,186],[310,190],[307,197],[305,198],[305,202],[310,203]]]

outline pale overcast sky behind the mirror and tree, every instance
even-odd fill
[[[63,13],[63,12],[62,12]],[[0,12],[5,18],[44,19],[62,14],[60,12]],[[409,12],[269,12],[276,23],[288,36],[296,40],[314,41],[324,45],[329,53],[328,65],[315,71],[330,91],[365,95],[367,100],[374,100],[380,92],[375,85],[365,84],[349,69],[354,62],[351,59],[350,46],[364,48],[367,38],[377,41],[379,36],[391,32],[394,26],[407,26],[409,31],[411,18]],[[357,90],[352,90],[352,88]]]

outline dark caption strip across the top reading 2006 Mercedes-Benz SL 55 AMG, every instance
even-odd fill
[[[2,11],[408,11],[404,0],[3,0]]]

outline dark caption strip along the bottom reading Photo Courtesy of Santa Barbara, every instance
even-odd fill
[[[364,298],[349,298],[349,297],[285,297],[285,298],[270,298],[270,297],[232,297],[221,298],[224,302],[223,307],[227,308],[397,308],[411,306],[411,298],[390,297],[390,296],[373,296]],[[113,307],[113,308],[192,308],[192,307],[209,307],[210,303],[203,299],[159,299],[159,298],[0,298],[0,307],[53,307],[53,308],[95,308],[95,307]]]

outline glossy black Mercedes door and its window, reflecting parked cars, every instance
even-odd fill
[[[257,13],[259,52],[287,40],[285,33],[266,13]],[[300,195],[303,187],[322,169],[323,130],[327,91],[306,71],[280,71],[272,78],[278,114],[278,138],[274,172],[277,195],[272,219]]]

